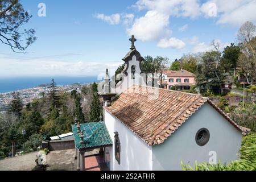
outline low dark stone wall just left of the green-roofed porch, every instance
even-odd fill
[[[53,150],[67,150],[75,148],[74,140],[51,140],[42,143],[43,148],[48,148],[49,151]]]

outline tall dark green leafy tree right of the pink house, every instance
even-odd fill
[[[241,55],[240,47],[233,43],[224,48],[223,59],[221,59],[221,67],[224,72],[229,72],[233,69],[233,74],[236,76],[238,57]]]

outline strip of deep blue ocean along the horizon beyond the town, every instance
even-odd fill
[[[10,77],[0,78],[0,93],[14,92],[41,84],[49,84],[54,78],[56,85],[69,85],[74,83],[87,84],[97,82],[97,77]]]

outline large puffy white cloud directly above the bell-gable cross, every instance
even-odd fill
[[[137,18],[131,28],[127,29],[129,35],[137,39],[154,40],[167,34],[169,16],[158,11],[147,11],[146,15]]]

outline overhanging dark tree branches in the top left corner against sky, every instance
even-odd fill
[[[1,0],[0,42],[10,46],[14,52],[25,51],[36,40],[34,29],[20,31],[30,18],[18,0]]]

